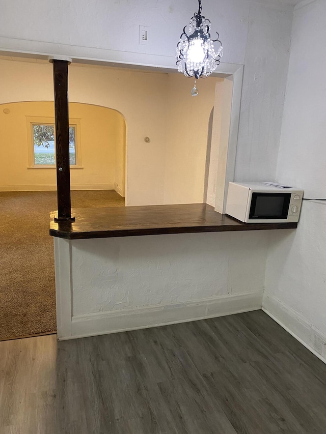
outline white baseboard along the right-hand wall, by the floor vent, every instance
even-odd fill
[[[286,306],[276,297],[264,292],[262,310],[283,327],[290,335],[302,343],[311,353],[326,363],[324,354],[319,354],[313,348],[314,336],[321,336],[318,331],[301,314]],[[326,337],[324,337],[326,341]]]

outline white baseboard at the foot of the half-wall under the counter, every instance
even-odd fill
[[[71,321],[72,335],[59,335],[58,338],[59,340],[75,339],[203,320],[259,310],[261,305],[262,291],[259,291],[242,295],[225,295],[177,305],[90,313],[73,316]]]

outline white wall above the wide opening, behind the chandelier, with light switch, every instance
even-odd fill
[[[188,0],[108,0],[95,5],[88,0],[37,0],[33,8],[24,0],[2,2],[0,46],[19,49],[29,41],[39,52],[51,48],[53,54],[72,56],[80,48],[174,56],[182,28],[197,9],[197,1]],[[214,17],[212,31],[224,36],[225,62],[243,63],[248,9],[243,0],[205,2],[204,15]],[[149,27],[147,45],[139,44],[139,25]],[[240,38],[235,38],[235,29]]]

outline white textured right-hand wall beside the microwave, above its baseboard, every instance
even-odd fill
[[[324,0],[295,11],[277,178],[311,198],[326,198],[325,34]],[[304,201],[295,232],[282,240],[273,234],[266,271],[269,295],[324,336],[325,225],[325,202]]]

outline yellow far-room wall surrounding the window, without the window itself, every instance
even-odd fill
[[[4,109],[9,110],[5,113]],[[53,102],[0,105],[0,190],[54,190],[56,169],[29,168],[26,117],[54,118]],[[123,118],[105,107],[70,103],[69,117],[80,120],[79,163],[72,168],[72,189],[113,189],[122,183]]]

